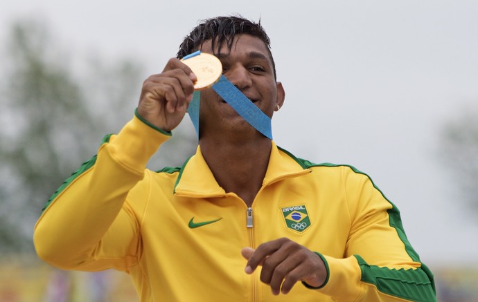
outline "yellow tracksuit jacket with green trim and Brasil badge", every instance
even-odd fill
[[[432,273],[398,209],[364,173],[299,160],[272,142],[248,208],[215,181],[201,151],[145,169],[170,136],[135,116],[53,194],[35,226],[40,258],[67,270],[130,274],[141,301],[435,301]],[[245,274],[242,247],[287,237],[317,252],[328,279],[273,296]]]

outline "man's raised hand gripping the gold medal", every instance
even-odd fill
[[[138,114],[163,131],[175,129],[193,100],[196,81],[191,68],[179,59],[170,59],[162,73],[143,83]]]

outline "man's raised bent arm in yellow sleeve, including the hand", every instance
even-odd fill
[[[188,66],[170,59],[162,73],[144,82],[133,120],[118,135],[108,135],[98,155],[48,200],[35,225],[40,258],[64,269],[134,265],[141,252],[139,217],[127,199],[130,194],[147,198],[145,166],[184,117],[193,80]]]

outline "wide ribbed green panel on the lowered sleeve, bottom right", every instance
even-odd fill
[[[421,268],[389,269],[368,265],[362,257],[354,256],[362,270],[362,281],[375,285],[380,292],[411,301],[436,301],[432,281]]]

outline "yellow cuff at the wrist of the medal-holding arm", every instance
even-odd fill
[[[112,157],[125,167],[143,173],[151,156],[171,137],[170,133],[158,130],[145,124],[139,115],[135,114],[114,140],[110,141],[107,149]]]

